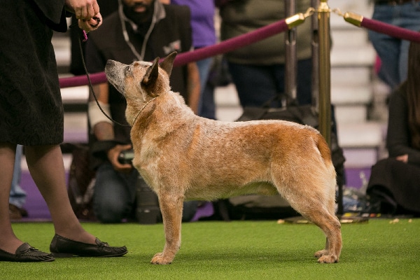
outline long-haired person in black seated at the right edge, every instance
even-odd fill
[[[391,94],[386,148],[367,186],[372,213],[420,216],[420,43],[410,43],[407,80]]]

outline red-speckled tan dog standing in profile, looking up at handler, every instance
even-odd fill
[[[106,78],[127,101],[134,167],[158,195],[165,247],[151,263],[169,264],[181,246],[183,201],[280,193],[326,235],[318,262],[338,262],[336,174],[330,148],[312,127],[283,120],[222,122],[196,116],[169,76],[176,52],[162,62],[108,60]]]

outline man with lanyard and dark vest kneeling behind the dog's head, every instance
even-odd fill
[[[90,73],[103,72],[106,61],[125,64],[152,61],[173,51],[193,48],[190,9],[163,4],[158,0],[120,0],[119,8],[105,19],[104,26],[92,32],[85,45],[85,59]],[[192,62],[172,69],[172,90],[180,92],[197,113],[200,98],[200,74]],[[94,85],[102,108],[116,122],[127,125],[125,99],[109,83]],[[96,181],[94,214],[102,223],[121,223],[134,218],[139,172],[130,163],[118,161],[118,155],[132,149],[130,126],[114,124],[99,111],[91,94],[88,106],[90,145]],[[185,202],[183,221],[190,221],[196,202]]]

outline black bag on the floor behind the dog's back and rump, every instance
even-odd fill
[[[272,101],[269,103],[271,102]],[[287,108],[270,108],[268,106],[269,103],[262,107],[244,108],[244,113],[242,113],[241,117],[237,121],[288,120],[294,123],[300,123],[301,125],[309,125],[318,129],[318,113],[316,112],[314,106],[297,106],[295,102],[292,101],[289,102]],[[345,158],[342,148],[338,146],[334,122],[332,122],[331,130],[332,163],[337,173],[337,186],[339,190],[342,190],[342,186],[344,186]],[[231,214],[237,214],[237,212],[242,212],[243,216],[255,216],[255,214],[261,214],[259,216],[267,216],[267,214],[273,216],[277,214],[277,218],[283,218],[281,215],[295,216],[297,214],[297,212],[291,210],[290,205],[286,202],[286,200],[283,200],[281,195],[275,195],[274,197],[265,195],[244,195],[239,197],[230,197],[228,202],[233,207],[233,209],[230,209]],[[338,202],[339,208],[341,207],[342,209],[342,197],[341,201],[339,197]]]

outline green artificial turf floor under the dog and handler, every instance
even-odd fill
[[[172,265],[151,265],[162,250],[162,224],[83,223],[122,258],[62,258],[45,263],[0,262],[0,279],[420,279],[420,219],[371,219],[342,225],[336,264],[318,264],[325,238],[315,225],[276,221],[184,223]],[[13,223],[20,239],[49,251],[51,223]]]

